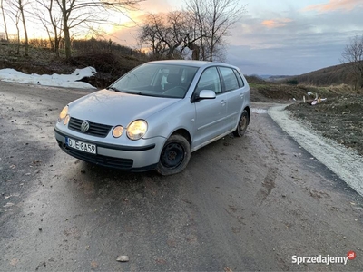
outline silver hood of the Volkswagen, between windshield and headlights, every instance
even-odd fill
[[[137,119],[147,120],[153,113],[160,112],[180,100],[103,89],[71,102],[69,114],[81,120],[127,126]]]

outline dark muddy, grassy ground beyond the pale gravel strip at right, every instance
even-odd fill
[[[251,92],[252,101],[287,103],[286,109],[291,117],[304,122],[320,135],[363,155],[363,94],[332,95],[324,102],[311,105],[312,99],[308,101],[308,98],[304,103],[278,99],[280,94],[277,96],[273,92],[262,94],[253,88]]]

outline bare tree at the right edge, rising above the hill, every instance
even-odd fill
[[[347,63],[347,67],[353,78],[354,88],[363,87],[363,35],[356,35],[350,40],[341,53],[341,63]]]

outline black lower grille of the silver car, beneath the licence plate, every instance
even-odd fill
[[[132,169],[133,160],[131,159],[120,159],[113,158],[103,155],[95,155],[83,151],[77,151],[72,148],[67,147],[64,143],[58,141],[59,146],[63,151],[73,156],[76,159],[88,161],[94,164],[108,166],[112,168],[117,168],[121,170],[130,170]]]

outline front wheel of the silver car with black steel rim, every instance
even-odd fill
[[[184,170],[191,160],[191,145],[182,135],[172,135],[164,144],[156,170],[162,175],[173,175]]]

